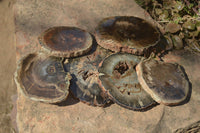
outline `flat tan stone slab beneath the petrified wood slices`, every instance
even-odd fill
[[[40,50],[38,36],[53,26],[76,26],[93,34],[97,23],[109,16],[132,15],[153,23],[133,0],[17,0],[14,13],[17,60]],[[182,63],[182,58],[182,55],[172,53],[165,59]],[[191,55],[181,64],[192,83],[192,93],[190,99],[180,106],[157,105],[137,112],[116,104],[105,108],[92,107],[71,96],[58,106],[31,101],[18,91],[18,130],[20,133],[169,133],[188,127],[200,121],[199,60],[198,56]]]

